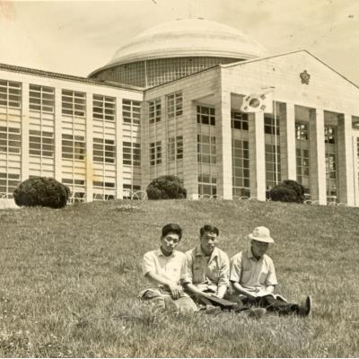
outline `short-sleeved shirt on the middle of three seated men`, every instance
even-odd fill
[[[196,285],[200,290],[217,291],[218,286],[229,285],[229,258],[218,248],[212,252],[211,256],[206,257],[197,246],[193,250],[186,252],[187,257],[187,276],[184,283]]]

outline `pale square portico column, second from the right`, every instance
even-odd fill
[[[326,159],[324,144],[324,111],[310,109],[311,199],[327,204]]]

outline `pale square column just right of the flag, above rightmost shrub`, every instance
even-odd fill
[[[279,105],[282,180],[297,180],[293,103]]]

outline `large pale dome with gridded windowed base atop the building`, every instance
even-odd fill
[[[257,41],[229,26],[204,19],[177,20],[140,33],[89,77],[148,88],[265,55],[267,50]]]

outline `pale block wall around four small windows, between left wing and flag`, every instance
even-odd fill
[[[188,78],[144,92],[144,107],[148,110],[148,101],[161,99],[162,120],[155,125],[149,124],[148,115],[143,117],[143,188],[146,188],[153,178],[171,173],[178,174],[184,180],[188,190],[188,197],[198,194],[198,163],[197,163],[197,105],[216,107],[215,96],[220,96],[220,69],[214,68],[202,73],[193,74]],[[168,96],[181,92],[182,114],[176,118],[168,118]],[[155,134],[154,135],[154,127]],[[183,136],[183,159],[173,164],[168,161],[168,144],[171,136]],[[152,139],[150,139],[152,138]],[[150,143],[153,138],[162,142],[162,163],[150,164]]]

